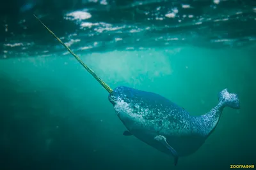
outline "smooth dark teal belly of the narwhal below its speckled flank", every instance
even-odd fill
[[[117,114],[119,115],[119,113]],[[147,120],[143,120],[142,118],[138,119],[138,122],[127,120],[125,117],[119,116],[119,118],[127,130],[136,138],[168,155],[172,155],[172,153],[170,153],[170,150],[166,146],[154,139],[156,136],[165,136],[168,144],[176,150],[179,157],[196,152],[205,141],[204,136],[195,132],[189,133],[190,129],[173,131],[173,129],[169,129],[168,127],[157,127],[159,122],[147,122]]]

